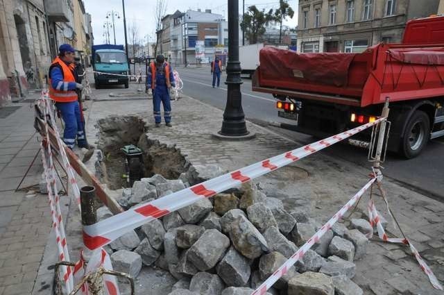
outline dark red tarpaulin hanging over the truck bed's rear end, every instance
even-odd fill
[[[260,74],[266,79],[295,78],[338,87],[347,85],[355,53],[296,53],[264,47],[259,52]]]

